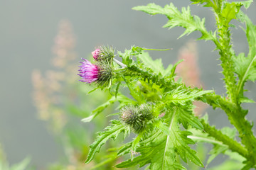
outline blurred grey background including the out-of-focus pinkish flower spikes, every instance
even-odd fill
[[[197,62],[191,67],[184,66],[190,69],[181,70],[181,76],[193,78],[188,84],[225,94],[221,68],[218,65],[220,62],[217,60],[218,52],[214,51],[213,42],[193,41],[201,36],[197,32],[177,39],[184,29],[161,28],[167,21],[165,16],[149,16],[131,9],[150,2],[164,6],[170,1],[0,2],[0,146],[5,155],[3,157],[9,164],[21,162],[26,157],[31,158],[31,165],[36,169],[46,169],[60,160],[65,162],[64,154],[72,152],[76,155],[77,151],[63,149],[63,143],[77,143],[78,151],[85,149],[85,152],[78,153],[79,159],[85,160],[86,155],[83,154],[87,153],[87,147],[81,146],[90,145],[93,141],[93,138],[87,139],[88,134],[95,137],[94,132],[102,130],[107,124],[102,123],[102,128],[100,126],[97,129],[97,124],[85,125],[80,119],[90,115],[90,111],[104,103],[108,96],[100,92],[96,93],[96,97],[87,96],[87,91],[92,87],[80,83],[76,74],[80,58],[90,58],[90,53],[100,45],[112,45],[122,51],[129,49],[131,45],[156,49],[172,48],[169,51],[150,52],[154,59],[161,58],[165,66],[176,62],[178,58],[192,55],[192,61]],[[179,9],[191,4],[188,0],[171,2]],[[242,10],[245,11],[244,8]],[[254,2],[246,11],[253,23],[256,23],[255,10]],[[209,8],[192,5],[191,11],[206,18],[208,30],[215,29],[213,13]],[[233,21],[233,24],[238,22]],[[246,53],[247,42],[242,29],[238,26],[233,28],[232,33],[235,52]],[[196,75],[186,74],[193,70]],[[255,100],[255,84],[249,82],[246,88],[249,90],[247,97]],[[102,98],[99,99],[101,95]],[[253,111],[255,103],[245,107]],[[65,116],[64,111],[68,112]],[[228,122],[221,111],[208,108],[205,112],[209,114],[211,125],[222,128]],[[51,113],[55,114],[50,115]],[[250,112],[247,118],[256,120],[256,115]],[[100,121],[97,120],[99,125]],[[65,131],[68,125],[72,128],[75,125],[80,127],[76,137],[67,135],[70,135]],[[60,139],[58,135],[64,131],[66,137]],[[87,136],[82,135],[84,133]],[[70,139],[76,140],[70,142]],[[83,142],[84,144],[80,144]]]

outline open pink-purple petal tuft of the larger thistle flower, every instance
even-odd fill
[[[85,60],[82,58],[82,60]],[[80,74],[78,74],[82,79],[80,81],[85,83],[92,83],[93,81],[97,81],[99,77],[100,70],[95,64],[92,64],[88,60],[85,62],[80,62],[82,65],[81,68],[78,70]]]

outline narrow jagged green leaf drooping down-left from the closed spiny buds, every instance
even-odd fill
[[[109,140],[110,138],[116,140],[117,136],[121,132],[124,132],[124,135],[129,133],[127,130],[128,129],[125,128],[119,120],[112,120],[112,125],[105,128],[105,131],[99,132],[95,142],[93,142],[92,145],[90,145],[90,151],[85,161],[85,164],[92,161],[93,157],[95,157],[95,154],[97,152],[100,152],[100,148],[107,142],[107,140]]]

